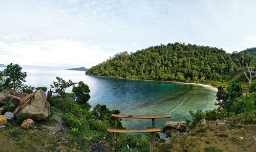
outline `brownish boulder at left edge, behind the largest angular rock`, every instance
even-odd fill
[[[8,102],[11,102],[17,106],[19,101],[27,95],[28,94],[24,92],[5,89],[4,91],[0,92],[0,106],[4,106]]]

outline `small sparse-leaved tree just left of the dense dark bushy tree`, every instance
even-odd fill
[[[66,82],[62,78],[56,77],[58,82],[53,82],[53,85],[51,85],[52,88],[55,88],[55,93],[58,93],[62,98],[66,97],[65,90],[71,86],[74,86],[76,83],[73,83],[71,80]]]

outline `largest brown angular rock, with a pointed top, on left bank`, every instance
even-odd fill
[[[33,120],[45,120],[50,115],[50,104],[46,94],[42,90],[30,93],[20,100],[18,107],[14,111],[15,116],[22,114],[25,118]]]

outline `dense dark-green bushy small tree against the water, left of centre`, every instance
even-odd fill
[[[91,108],[91,106],[87,104],[88,100],[90,99],[90,95],[89,95],[90,89],[87,84],[84,84],[82,81],[80,81],[77,87],[76,86],[73,87],[72,91],[75,93],[76,102],[86,106],[87,109]]]

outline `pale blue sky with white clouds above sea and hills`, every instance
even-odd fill
[[[87,68],[185,42],[256,46],[256,1],[0,1],[0,64]]]

